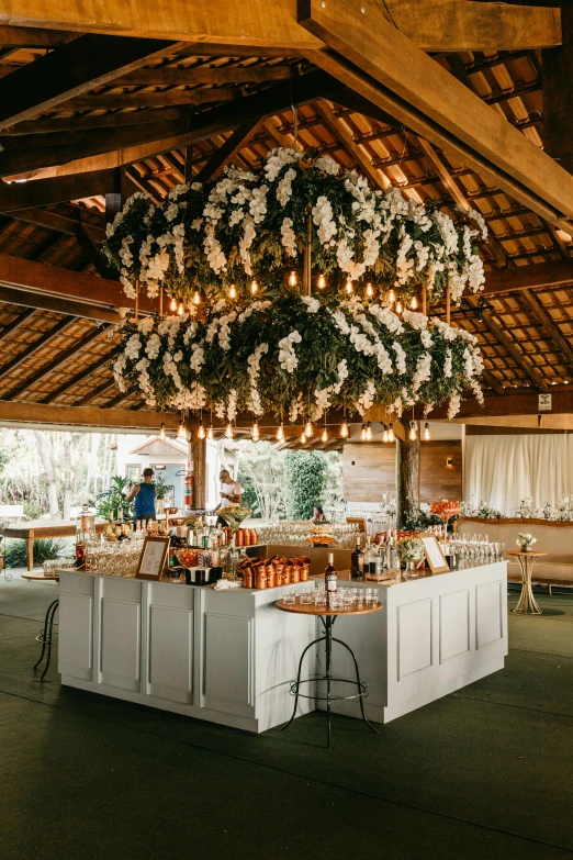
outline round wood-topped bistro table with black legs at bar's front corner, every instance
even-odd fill
[[[368,615],[372,612],[380,612],[382,608],[381,603],[377,603],[375,605],[372,604],[364,604],[362,607],[352,607],[352,608],[339,608],[339,610],[333,610],[328,605],[325,606],[316,606],[314,603],[303,603],[301,604],[301,599],[296,597],[294,603],[285,603],[283,600],[278,600],[274,605],[278,610],[281,610],[281,612],[292,612],[296,615],[315,615],[316,617],[321,618],[324,635],[319,636],[317,639],[313,639],[312,643],[310,643],[301,655],[301,659],[299,660],[299,671],[296,673],[296,681],[293,681],[291,684],[291,695],[294,696],[294,707],[292,712],[292,716],[289,719],[288,723],[282,726],[281,731],[284,731],[285,728],[289,728],[291,723],[293,722],[294,717],[296,716],[296,708],[299,706],[299,697],[302,696],[303,699],[314,699],[321,702],[326,702],[326,713],[327,713],[327,728],[326,728],[326,738],[327,738],[327,747],[330,749],[330,741],[332,741],[332,721],[330,721],[330,704],[335,701],[340,700],[350,700],[350,699],[358,699],[360,702],[360,712],[362,714],[362,719],[367,724],[367,726],[374,733],[379,734],[378,730],[374,728],[374,726],[368,721],[368,717],[364,713],[364,703],[363,699],[368,695],[368,686],[367,684],[360,680],[360,672],[358,670],[358,660],[356,659],[355,652],[350,648],[349,645],[347,645],[341,639],[337,639],[333,636],[333,627],[335,625],[335,622],[339,615],[347,615],[347,616],[355,616],[355,615]],[[313,677],[313,678],[304,678],[301,679],[302,673],[302,666],[303,660],[306,651],[312,648],[314,645],[318,645],[318,643],[325,643],[326,648],[326,672],[324,675]],[[356,671],[356,680],[349,680],[347,678],[335,678],[333,675],[333,643],[338,643],[338,645],[341,645],[342,648],[346,648],[346,650],[350,654],[350,657],[352,658],[352,661],[355,663],[355,671]],[[305,693],[301,693],[301,684],[307,684],[316,681],[326,681],[326,695],[310,695]],[[333,695],[330,692],[332,682],[337,681],[339,683],[344,684],[353,684],[356,685],[357,693],[355,695]]]

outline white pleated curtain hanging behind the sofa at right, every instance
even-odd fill
[[[467,436],[464,501],[515,516],[523,499],[557,505],[573,494],[573,435]]]

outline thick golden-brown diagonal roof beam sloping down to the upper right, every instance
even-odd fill
[[[381,7],[364,4],[357,14],[346,0],[324,7],[300,0],[299,9],[301,23],[328,44],[308,59],[416,134],[457,153],[537,214],[571,230],[573,177],[419,51],[386,21]]]

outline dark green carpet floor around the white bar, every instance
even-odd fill
[[[43,683],[50,585],[0,580],[2,860],[520,860],[573,853],[573,595],[506,668],[380,726],[260,736]],[[509,607],[515,605],[512,592]],[[57,655],[56,655],[57,657]]]

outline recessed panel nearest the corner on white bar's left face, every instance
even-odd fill
[[[252,711],[252,619],[206,612],[204,705],[248,715]]]

